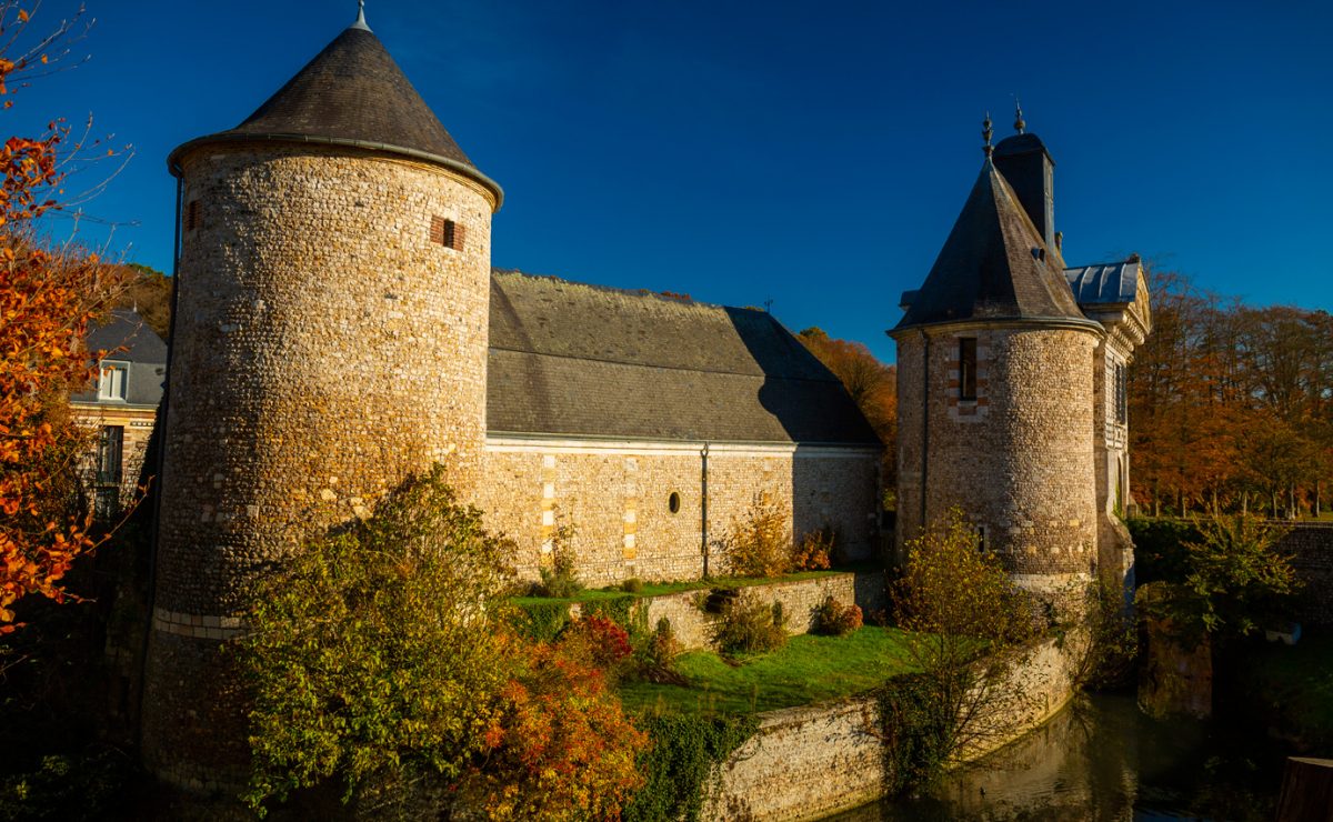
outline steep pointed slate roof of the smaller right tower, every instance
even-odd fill
[[[1060,252],[1048,249],[1004,176],[986,160],[925,284],[894,332],[962,320],[1094,325],[1074,302]]]

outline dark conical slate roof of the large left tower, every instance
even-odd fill
[[[187,148],[235,140],[295,140],[407,153],[464,172],[500,196],[408,81],[388,49],[363,23],[343,31],[305,68],[233,129],[192,140]]]

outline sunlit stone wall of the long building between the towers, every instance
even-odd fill
[[[573,548],[591,585],[697,580],[705,544],[708,570],[725,573],[716,542],[765,492],[789,512],[794,536],[832,525],[849,558],[874,554],[877,450],[709,444],[706,458],[702,450],[702,442],[492,437],[477,505],[491,529],[515,541],[519,572],[531,580],[557,540]]]

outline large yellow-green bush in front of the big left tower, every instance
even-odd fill
[[[513,657],[495,613],[508,553],[436,466],[263,581],[237,643],[251,806],[328,779],[372,801],[461,775]]]

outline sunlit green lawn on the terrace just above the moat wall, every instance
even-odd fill
[[[910,666],[902,631],[865,626],[848,637],[792,637],[786,647],[730,665],[712,651],[677,661],[690,686],[627,682],[629,710],[753,713],[837,699],[873,689]]]

